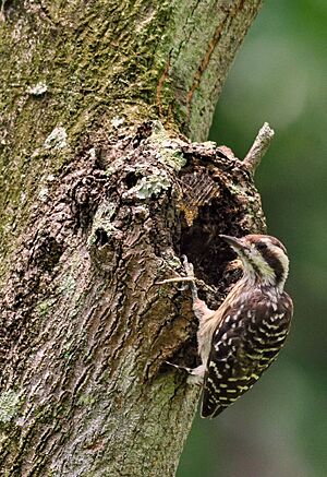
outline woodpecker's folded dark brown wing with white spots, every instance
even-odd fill
[[[226,311],[213,336],[202,417],[216,417],[253,386],[282,347],[291,314],[292,308],[263,300]]]

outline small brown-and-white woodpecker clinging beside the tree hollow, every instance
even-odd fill
[[[283,290],[289,259],[283,245],[267,235],[220,235],[241,260],[243,275],[218,310],[197,297],[193,266],[185,259],[193,310],[199,321],[202,365],[189,369],[203,384],[202,417],[214,418],[233,404],[276,360],[290,331],[293,302]]]

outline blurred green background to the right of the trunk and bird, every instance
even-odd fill
[[[210,139],[239,157],[264,121],[276,131],[256,184],[289,250],[295,313],[261,382],[195,420],[178,477],[327,476],[326,53],[326,0],[266,1],[220,97]]]

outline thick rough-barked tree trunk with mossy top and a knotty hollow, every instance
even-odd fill
[[[217,307],[217,234],[265,227],[249,166],[181,133],[206,139],[261,1],[64,3],[1,12],[0,468],[173,476],[199,389],[165,362],[196,363],[196,322],[157,282],[185,253]]]

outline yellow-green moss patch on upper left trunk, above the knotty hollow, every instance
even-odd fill
[[[124,117],[130,126],[157,114],[164,57],[157,62],[155,51],[171,2],[154,8],[93,2],[83,7],[83,14],[75,5],[48,7],[53,23],[35,23],[28,7],[17,8],[0,31],[0,176],[7,178],[0,187],[1,254],[15,247],[8,232],[12,228],[8,203],[19,236],[35,202],[37,177],[56,175],[72,162],[82,138],[120,126],[112,119]],[[63,28],[68,21],[70,27]],[[20,28],[13,35],[15,23]],[[31,41],[34,37],[37,43]],[[23,206],[21,193],[26,196]]]

